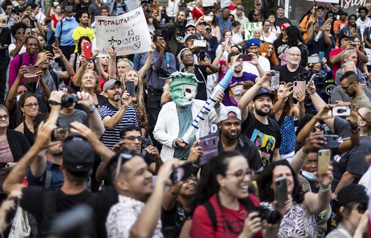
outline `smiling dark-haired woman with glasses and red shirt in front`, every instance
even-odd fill
[[[278,226],[263,229],[258,212],[244,206],[259,205],[259,199],[248,194],[252,174],[239,152],[222,152],[209,160],[194,196],[190,237],[276,237]],[[214,219],[206,207],[214,210]]]

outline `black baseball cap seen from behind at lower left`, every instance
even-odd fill
[[[64,168],[73,175],[87,175],[94,164],[94,150],[78,133],[69,133],[63,140],[62,160]]]

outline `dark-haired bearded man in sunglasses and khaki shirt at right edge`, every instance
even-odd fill
[[[350,98],[350,103],[355,104],[356,108],[367,107],[371,109],[370,99],[358,83],[358,76],[353,71],[345,72],[340,78],[340,85]],[[348,105],[348,103],[345,103]]]

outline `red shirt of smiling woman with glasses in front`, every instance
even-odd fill
[[[257,197],[251,194],[249,194],[248,197],[251,199],[252,204],[254,204],[255,206],[259,205],[259,199]],[[206,208],[200,205],[195,209],[193,213],[192,226],[189,231],[190,237],[237,238],[244,229],[244,222],[248,215],[248,211],[245,209],[245,207],[240,204],[240,208],[237,211],[223,207],[223,211],[225,214],[224,218],[217,204],[216,194],[209,198],[209,201],[211,202],[215,210],[217,230],[214,231],[212,221],[210,220]],[[233,225],[233,230],[235,231],[235,233],[232,233],[228,229],[225,219],[227,219],[230,224]],[[262,235],[262,231],[259,231],[255,234],[254,237],[258,238],[262,237]]]

